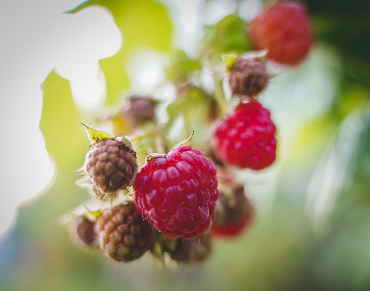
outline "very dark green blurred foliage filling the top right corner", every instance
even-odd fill
[[[342,55],[343,72],[370,86],[370,1],[305,0],[316,42]]]

